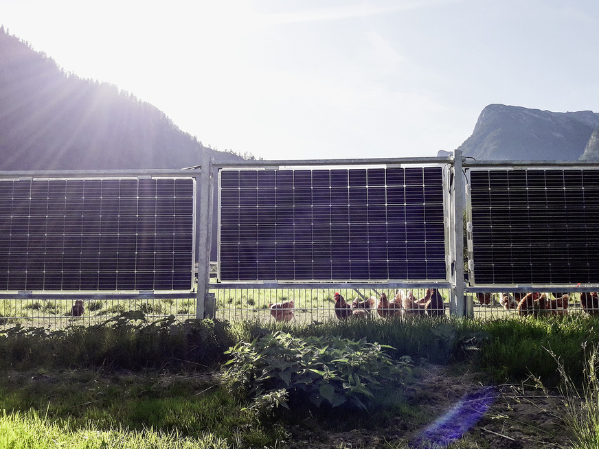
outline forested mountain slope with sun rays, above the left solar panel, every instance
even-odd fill
[[[60,69],[0,28],[0,170],[185,168],[205,148],[158,108]]]

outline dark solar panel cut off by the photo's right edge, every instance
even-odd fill
[[[477,284],[597,284],[599,170],[472,170]]]

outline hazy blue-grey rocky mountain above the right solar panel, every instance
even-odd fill
[[[459,149],[478,160],[576,161],[598,129],[599,113],[592,111],[554,113],[490,104]],[[588,157],[599,156],[590,151]]]

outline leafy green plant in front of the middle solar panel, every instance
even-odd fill
[[[400,380],[409,369],[409,358],[394,363],[385,348],[365,338],[295,338],[279,331],[229,348],[225,378],[231,391],[253,400],[253,407],[263,408],[271,398],[273,406],[286,408],[346,404],[365,410],[383,380]]]

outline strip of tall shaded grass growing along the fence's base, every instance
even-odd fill
[[[0,332],[0,369],[218,369],[226,360],[224,352],[238,341],[249,342],[283,330],[295,336],[366,338],[369,343],[393,347],[389,354],[394,357],[442,364],[467,360],[494,382],[519,381],[532,375],[553,387],[560,376],[556,361],[544,348],[550,347],[561,357],[565,371],[580,383],[585,360],[581,345],[599,342],[598,322],[592,316],[568,314],[541,319],[442,316],[232,324],[192,319],[181,323],[172,316],[152,322],[142,312],[127,312],[98,325],[70,325],[63,330],[17,325]]]

